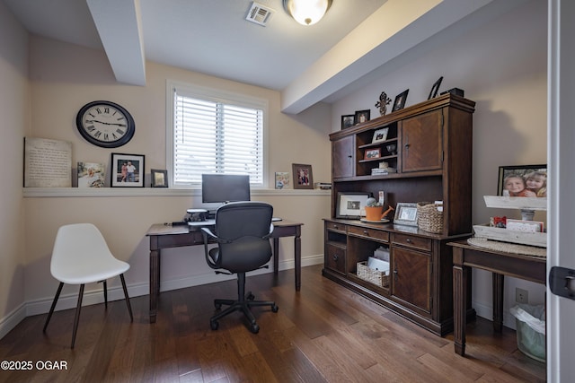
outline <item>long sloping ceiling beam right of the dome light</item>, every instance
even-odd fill
[[[388,0],[281,92],[297,114],[493,0]]]

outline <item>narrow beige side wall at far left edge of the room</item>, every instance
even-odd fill
[[[0,2],[0,337],[15,326],[24,301],[22,137],[29,127],[28,35]]]

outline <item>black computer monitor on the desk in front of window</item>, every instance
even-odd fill
[[[249,201],[250,176],[236,174],[202,174],[201,202],[204,204]]]

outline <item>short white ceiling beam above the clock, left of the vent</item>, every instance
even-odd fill
[[[139,0],[86,0],[119,83],[146,85]]]

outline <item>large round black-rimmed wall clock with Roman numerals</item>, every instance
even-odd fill
[[[75,125],[86,141],[102,148],[128,144],[136,131],[128,110],[111,101],[88,102],[78,111]]]

